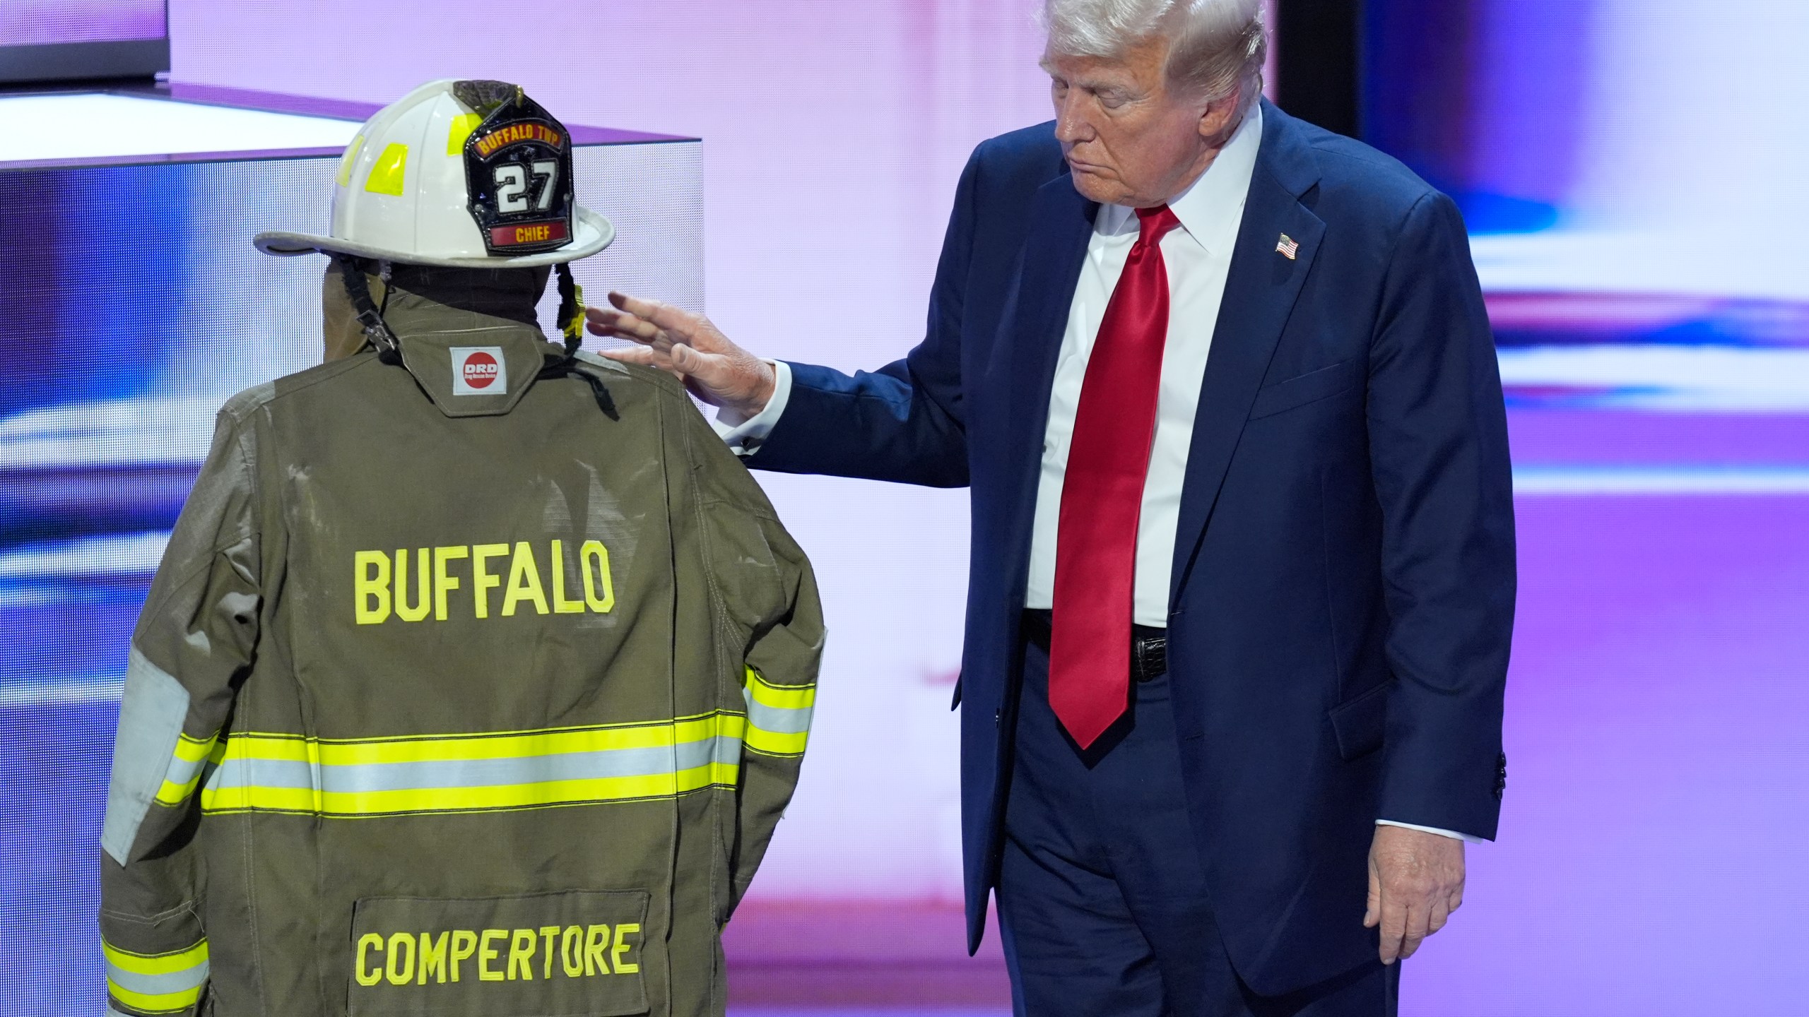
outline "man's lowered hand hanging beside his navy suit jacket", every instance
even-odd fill
[[[1375,827],[1369,841],[1369,910],[1364,928],[1382,927],[1382,963],[1411,957],[1463,903],[1463,841]]]

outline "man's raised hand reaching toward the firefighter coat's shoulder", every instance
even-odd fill
[[[671,371],[696,398],[740,413],[758,414],[772,398],[772,366],[729,342],[704,315],[693,315],[626,293],[610,293],[610,308],[584,308],[592,335],[630,338],[640,346],[604,349],[622,364]]]

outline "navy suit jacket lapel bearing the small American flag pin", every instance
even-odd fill
[[[1312,152],[1295,141],[1299,128],[1268,103],[1263,105],[1263,147],[1250,179],[1243,224],[1237,228],[1225,302],[1219,306],[1212,353],[1199,387],[1199,409],[1194,414],[1174,534],[1169,610],[1174,610],[1192,570],[1250,404],[1326,232],[1324,221],[1299,201],[1319,179]],[[1277,250],[1283,235],[1299,242],[1293,259]]]

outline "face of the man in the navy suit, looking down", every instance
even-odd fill
[[[1149,208],[1212,165],[1208,145],[1230,123],[1236,96],[1210,107],[1169,89],[1169,42],[1151,38],[1120,60],[1044,54],[1055,136],[1089,201]]]

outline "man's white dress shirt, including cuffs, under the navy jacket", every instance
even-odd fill
[[[1207,172],[1169,201],[1181,228],[1170,230],[1161,239],[1161,261],[1169,275],[1169,338],[1161,351],[1156,438],[1151,447],[1149,472],[1143,478],[1143,507],[1138,516],[1132,599],[1132,619],[1152,628],[1169,624],[1174,536],[1179,527],[1181,485],[1187,480],[1187,452],[1194,438],[1194,413],[1199,407],[1207,355],[1212,349],[1212,333],[1217,328],[1225,280],[1232,266],[1232,248],[1237,244],[1237,228],[1243,224],[1245,197],[1250,194],[1250,177],[1255,172],[1261,141],[1263,109],[1255,107],[1207,166]],[[1062,333],[1062,349],[1049,391],[1042,476],[1037,483],[1037,514],[1029,543],[1026,608],[1055,606],[1055,543],[1062,516],[1067,451],[1075,436],[1075,413],[1080,407],[1080,387],[1087,376],[1087,358],[1093,355],[1105,304],[1118,286],[1118,277],[1123,275],[1136,239],[1134,208],[1100,206],[1093,219],[1093,237],[1087,241],[1087,261],[1075,284],[1075,299],[1069,304],[1067,328]],[[751,418],[742,418],[727,409],[716,414],[716,432],[740,454],[753,452],[772,432],[772,425],[791,400],[791,367],[785,362],[771,364],[776,378],[772,400],[763,411]],[[1476,840],[1433,827],[1380,822],[1469,841]]]

